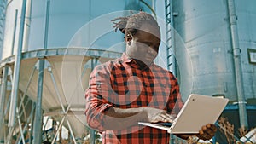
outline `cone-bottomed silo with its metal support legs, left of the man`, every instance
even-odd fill
[[[110,20],[130,10],[149,11],[148,5],[133,0],[13,0],[3,5],[0,143],[40,143],[47,132],[45,125],[41,130],[43,116],[56,122],[51,141],[62,125],[78,141],[86,130],[84,89],[92,68],[125,49]]]

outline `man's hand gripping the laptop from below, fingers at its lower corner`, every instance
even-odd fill
[[[210,140],[216,133],[217,127],[214,124],[207,124],[201,127],[196,136],[201,140]]]

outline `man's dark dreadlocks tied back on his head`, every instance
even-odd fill
[[[154,20],[154,17],[151,14],[142,11],[137,14],[132,14],[131,16],[118,17],[111,21],[114,24],[113,27],[115,28],[115,32],[119,29],[119,31],[125,34],[125,37],[135,35],[137,30],[139,30],[144,23],[158,26],[157,21]]]

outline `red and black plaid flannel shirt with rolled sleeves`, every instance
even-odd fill
[[[142,125],[125,130],[106,130],[102,118],[108,107],[155,107],[177,113],[183,107],[177,79],[152,64],[141,69],[135,60],[121,58],[96,66],[85,92],[87,123],[102,132],[102,143],[168,143],[169,134]]]

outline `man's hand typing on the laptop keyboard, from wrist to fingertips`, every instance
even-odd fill
[[[148,119],[146,121],[150,123],[157,123],[157,122],[169,122],[172,123],[175,115],[171,115],[165,110],[153,108],[153,107],[143,107],[143,112],[147,115]]]

